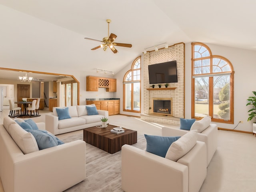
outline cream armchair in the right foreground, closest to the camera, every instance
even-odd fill
[[[198,192],[206,178],[204,142],[195,140],[177,162],[130,145],[122,146],[121,154],[125,192]]]

